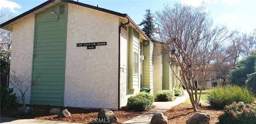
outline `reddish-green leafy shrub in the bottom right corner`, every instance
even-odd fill
[[[232,102],[232,104],[225,106],[224,113],[218,119],[220,124],[255,124],[256,104]]]

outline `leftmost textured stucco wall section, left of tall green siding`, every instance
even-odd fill
[[[34,16],[31,16],[30,18],[27,18],[13,26],[10,75],[14,74],[12,71],[14,70],[16,76],[24,77],[26,74],[26,77],[31,77],[33,42]],[[10,76],[10,81],[12,81],[12,76]],[[23,84],[29,86],[30,82],[24,82]],[[9,87],[12,88],[13,86],[9,83]],[[24,91],[24,87],[22,87],[22,89]],[[13,93],[16,93],[18,102],[22,103],[20,91],[14,88]],[[25,103],[30,103],[30,90],[25,94]]]

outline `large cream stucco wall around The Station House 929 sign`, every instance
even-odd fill
[[[64,106],[118,108],[119,17],[68,4]],[[96,49],[76,43],[107,42]]]

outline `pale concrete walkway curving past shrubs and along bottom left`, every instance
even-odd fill
[[[165,112],[180,103],[183,103],[187,98],[189,98],[188,93],[184,90],[184,96],[178,96],[175,100],[171,102],[154,102],[155,108],[150,111],[136,116],[131,120],[123,122],[122,124],[148,124],[155,112]],[[20,118],[6,118],[0,117],[1,124],[80,124],[71,122],[57,122],[50,120],[37,120],[37,119],[20,119]]]

